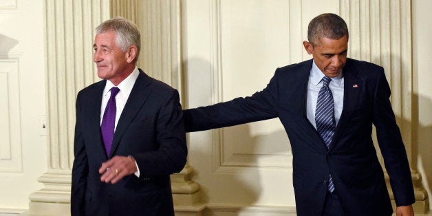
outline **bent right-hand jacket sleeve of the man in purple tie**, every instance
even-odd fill
[[[160,94],[168,96],[161,104],[155,125],[159,149],[133,155],[140,169],[140,178],[178,173],[186,164],[186,134],[180,97],[173,89]]]

